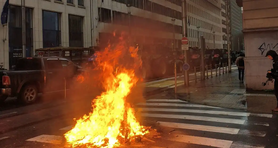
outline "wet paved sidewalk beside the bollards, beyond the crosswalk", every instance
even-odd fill
[[[276,98],[273,94],[247,94],[245,84],[238,80],[237,70],[197,83],[193,81],[189,88],[181,85],[177,90],[178,99],[191,103],[260,113],[271,113],[271,109],[276,107]],[[173,91],[170,93],[175,95]]]

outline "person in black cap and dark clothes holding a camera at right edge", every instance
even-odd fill
[[[270,76],[274,79],[274,95],[277,99],[277,107],[272,111],[278,112],[278,54],[274,50],[269,50],[265,57],[273,60]]]

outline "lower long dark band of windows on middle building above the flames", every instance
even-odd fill
[[[111,23],[111,10],[106,8],[98,8],[100,12],[99,22]],[[118,11],[113,11],[113,23],[120,25],[128,25],[128,14]],[[130,23],[134,27],[151,29],[157,31],[173,32],[173,24],[155,21],[139,16],[130,16]],[[182,26],[174,25],[175,33],[182,34]]]

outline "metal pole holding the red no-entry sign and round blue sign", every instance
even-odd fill
[[[182,0],[182,37],[187,37],[187,24],[186,24],[186,0]],[[187,50],[184,50],[184,63],[187,63]],[[189,86],[188,71],[184,70],[184,85]]]

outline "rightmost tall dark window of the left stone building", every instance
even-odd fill
[[[69,47],[83,47],[83,17],[69,15]]]

